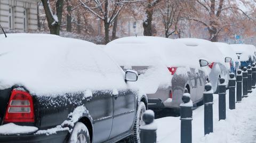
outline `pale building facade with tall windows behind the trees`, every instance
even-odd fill
[[[37,30],[37,1],[0,0],[0,24],[7,30]]]

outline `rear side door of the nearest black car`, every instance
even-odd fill
[[[93,142],[108,140],[113,122],[113,97],[109,92],[95,92],[85,103],[93,119]]]

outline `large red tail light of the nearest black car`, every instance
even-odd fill
[[[35,122],[33,99],[28,92],[12,90],[4,122]]]

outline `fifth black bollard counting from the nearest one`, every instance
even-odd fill
[[[236,78],[234,73],[230,73],[229,77],[229,109],[233,110],[236,108]]]

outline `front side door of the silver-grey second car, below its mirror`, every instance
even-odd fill
[[[203,92],[204,92],[204,86],[205,86],[205,72],[202,69],[198,69],[197,73],[197,94],[196,94],[196,100],[203,98]]]

